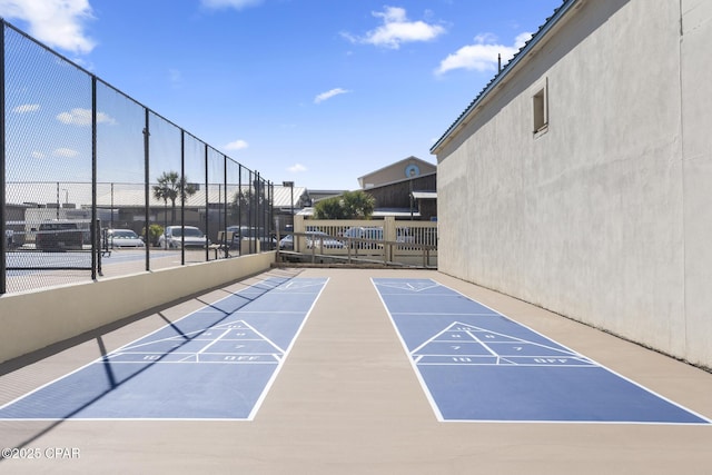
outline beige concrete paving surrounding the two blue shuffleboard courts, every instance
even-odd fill
[[[254,420],[0,420],[0,447],[24,456],[0,474],[712,473],[712,425],[437,422],[372,277],[433,278],[708,418],[712,375],[433,270],[271,269],[2,365],[0,405],[227,291],[297,275],[329,283]]]

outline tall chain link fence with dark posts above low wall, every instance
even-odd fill
[[[0,24],[0,294],[273,247],[271,182]]]

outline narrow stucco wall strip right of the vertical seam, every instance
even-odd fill
[[[712,2],[682,2],[681,78],[688,354],[712,367]]]

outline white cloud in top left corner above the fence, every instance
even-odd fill
[[[0,17],[27,21],[30,36],[52,48],[88,53],[96,46],[83,32],[93,18],[89,0],[0,0]]]

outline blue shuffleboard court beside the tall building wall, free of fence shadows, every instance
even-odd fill
[[[439,420],[711,423],[434,280],[373,283]]]

